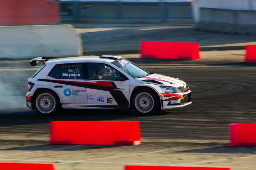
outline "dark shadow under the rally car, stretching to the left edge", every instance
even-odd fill
[[[0,126],[41,124],[50,123],[54,120],[70,121],[104,121],[104,120],[122,120],[129,118],[143,118],[150,116],[161,116],[169,114],[167,111],[158,111],[152,115],[138,115],[135,111],[113,110],[113,109],[63,109],[53,116],[41,116],[35,111],[13,112],[0,114]]]

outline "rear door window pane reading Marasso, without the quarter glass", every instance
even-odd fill
[[[83,79],[83,64],[60,64],[60,79]]]

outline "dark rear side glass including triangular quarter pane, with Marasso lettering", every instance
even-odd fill
[[[55,65],[48,76],[60,79],[83,79],[83,64],[68,63]]]

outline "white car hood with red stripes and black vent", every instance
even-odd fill
[[[135,78],[135,80],[141,83],[159,84],[162,86],[186,87],[186,83],[183,80],[161,74],[151,74],[146,77]]]

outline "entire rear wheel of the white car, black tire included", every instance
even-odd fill
[[[53,115],[60,109],[59,97],[47,90],[39,92],[34,98],[33,106],[40,115]]]

